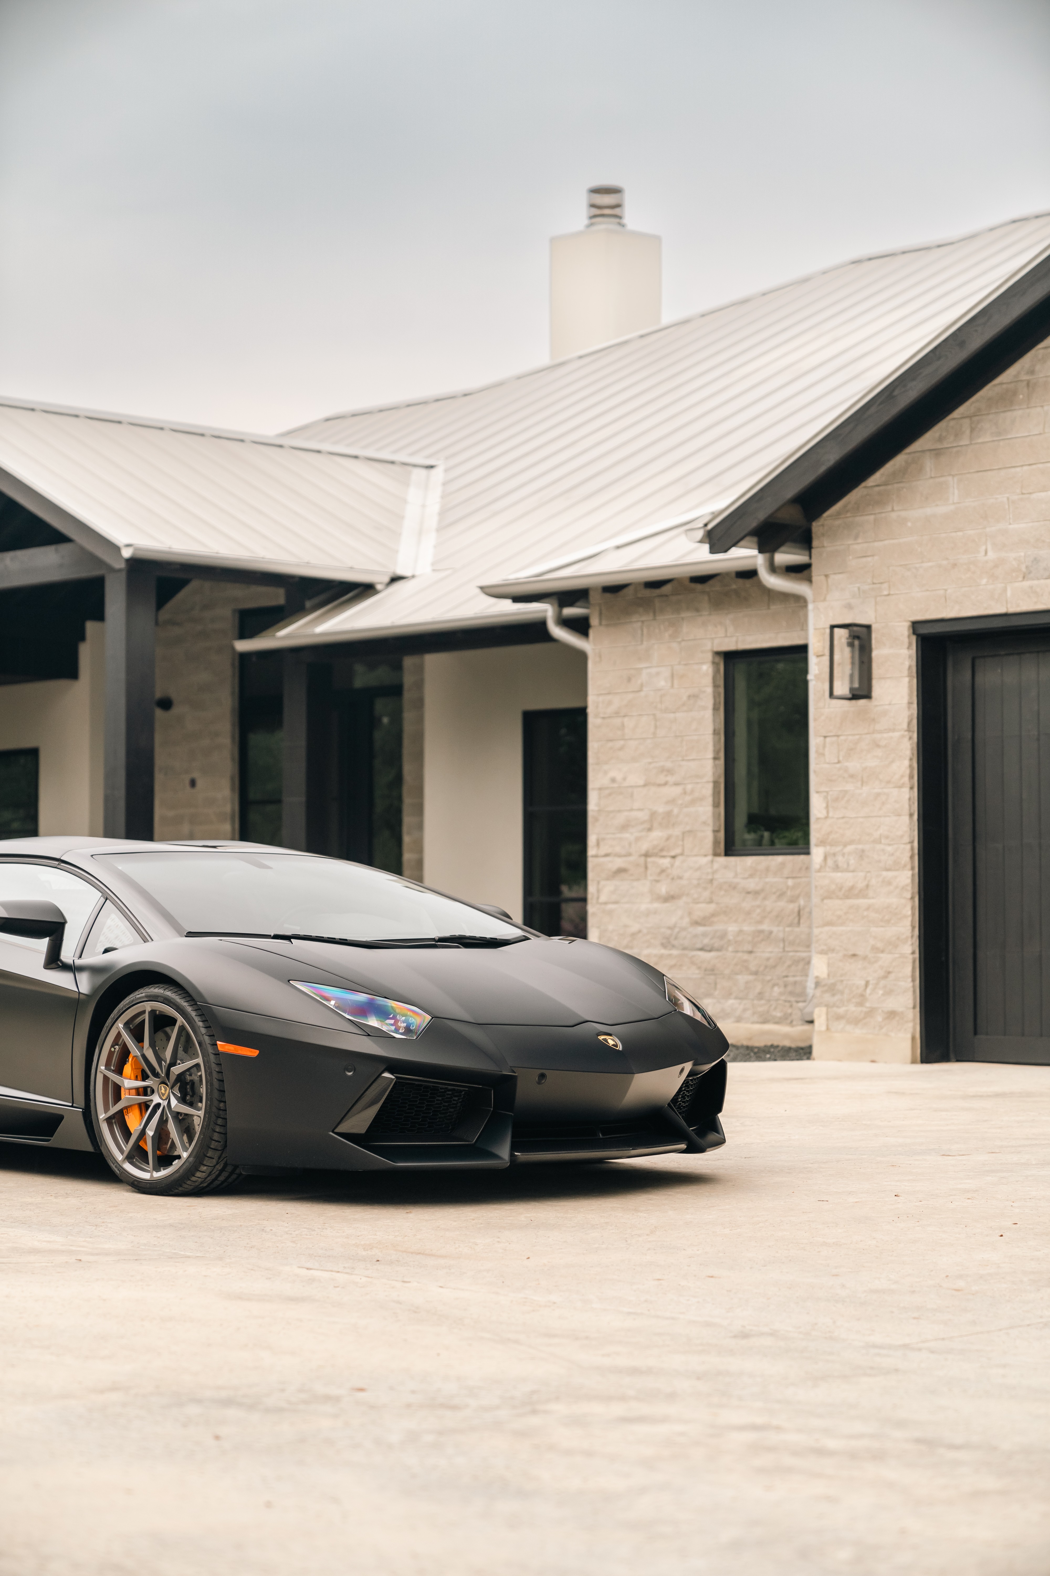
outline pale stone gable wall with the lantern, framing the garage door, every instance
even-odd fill
[[[1050,608],[1050,345],[814,528],[814,1054],[918,1059],[913,619]],[[828,700],[826,629],[872,624],[871,701]]]

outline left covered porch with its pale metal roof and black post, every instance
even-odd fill
[[[157,835],[200,835],[201,820],[236,835],[235,613],[389,583],[427,474],[309,441],[0,403],[6,835],[151,838],[157,813]],[[201,758],[225,815],[165,813]],[[294,763],[288,837],[305,846],[293,783]]]

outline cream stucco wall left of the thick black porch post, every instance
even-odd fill
[[[79,678],[0,687],[0,750],[39,750],[39,835],[102,835],[105,626],[88,624]]]

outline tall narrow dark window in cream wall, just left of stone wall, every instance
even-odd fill
[[[524,922],[587,935],[587,708],[524,714]]]

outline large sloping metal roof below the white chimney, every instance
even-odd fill
[[[296,438],[442,462],[433,572],[332,604],[272,643],[537,619],[545,608],[512,613],[479,586],[519,596],[570,552],[575,586],[625,567],[639,580],[704,572],[707,548],[677,528],[667,537],[667,522],[724,515],[1047,255],[1050,214],[1036,214],[842,263],[479,389],[309,422]],[[652,561],[612,561],[616,544],[639,539]],[[598,550],[612,553],[604,569]]]

